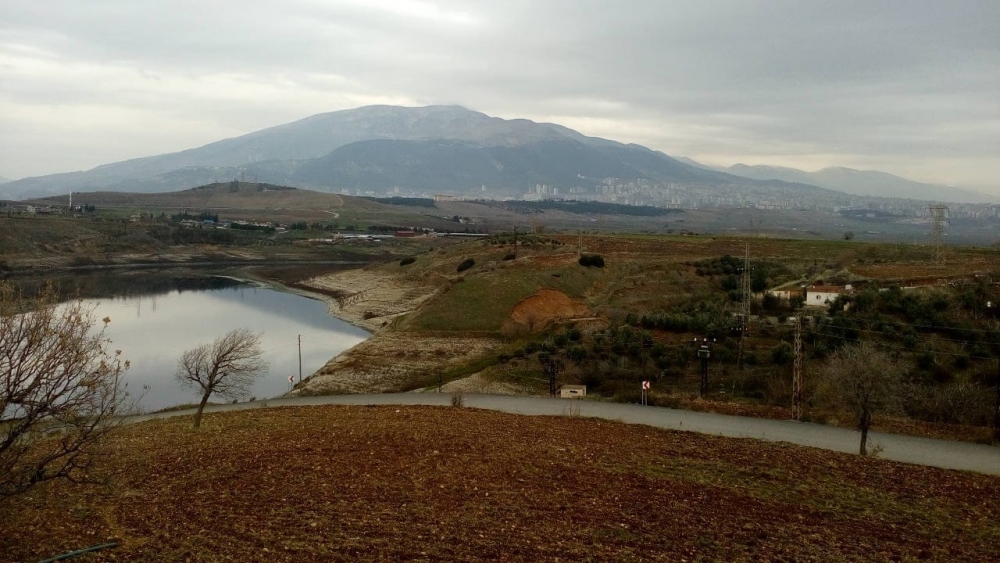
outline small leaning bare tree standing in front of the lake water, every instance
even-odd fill
[[[211,344],[192,348],[178,362],[176,377],[182,385],[201,391],[194,415],[194,427],[201,426],[201,414],[215,393],[228,399],[250,394],[254,381],[267,373],[261,357],[260,335],[238,328],[216,338]]]

